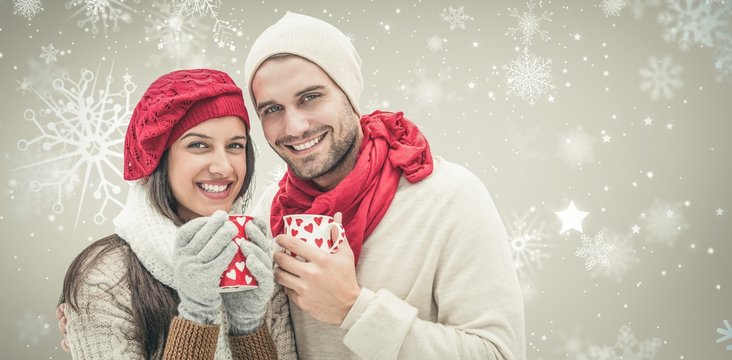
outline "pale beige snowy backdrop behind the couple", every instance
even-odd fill
[[[68,130],[126,121],[146,86],[174,69],[218,68],[244,86],[249,45],[293,10],[352,37],[363,58],[362,109],[403,110],[434,154],[485,183],[511,230],[529,359],[732,358],[732,340],[716,342],[732,320],[730,2],[625,0],[614,15],[601,6],[613,1],[602,0],[225,0],[217,17],[236,27],[232,51],[212,40],[210,14],[185,18],[190,37],[158,48],[166,38],[156,23],[168,18],[160,5],[184,1],[110,0],[127,13],[115,26],[109,17],[87,21],[83,1],[44,0],[29,20],[0,0],[2,357],[69,358],[54,320],[63,275],[82,248],[113,231],[125,199],[113,170],[119,157],[80,155],[120,154],[124,125],[89,137]],[[529,44],[507,33],[532,4],[539,18],[546,13],[546,39],[533,34]],[[441,14],[461,6],[470,18],[451,29]],[[688,49],[674,32],[679,14],[700,15],[685,17],[702,25]],[[46,63],[39,56],[49,44],[63,55]],[[540,88],[533,105],[507,94],[507,70],[524,49],[551,60],[542,72],[553,88]],[[657,67],[663,61],[671,65]],[[82,69],[93,79],[70,101]],[[126,74],[136,87],[125,86]],[[124,89],[134,90],[129,105]],[[69,102],[96,107],[85,113]],[[258,194],[283,168],[252,123]],[[93,163],[105,159],[111,165]],[[77,163],[66,173],[74,176],[61,177]],[[102,183],[110,195],[96,198]],[[555,212],[571,201],[589,213],[585,235],[602,231],[615,244],[608,267],[588,270],[575,255],[582,234],[559,233]],[[95,223],[97,214],[106,220]]]

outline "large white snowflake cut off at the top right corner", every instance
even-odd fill
[[[732,19],[732,7],[709,6],[703,0],[669,0],[667,5],[658,14],[658,22],[665,28],[663,39],[676,42],[684,51],[692,45],[716,46]]]

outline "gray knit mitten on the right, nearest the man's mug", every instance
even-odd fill
[[[255,331],[262,325],[264,313],[269,305],[274,289],[272,239],[266,234],[267,226],[259,219],[246,224],[249,241],[241,242],[241,251],[247,258],[247,267],[257,279],[259,286],[251,290],[223,293],[224,309],[229,315],[232,335],[244,335]]]

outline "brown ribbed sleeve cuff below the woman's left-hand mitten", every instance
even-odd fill
[[[218,335],[218,325],[199,324],[176,316],[170,322],[163,359],[213,359]]]

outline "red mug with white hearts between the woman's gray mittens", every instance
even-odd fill
[[[236,225],[238,230],[232,241],[237,245],[241,246],[242,241],[249,241],[247,234],[244,231],[244,226],[252,220],[251,216],[247,215],[229,215],[229,221]],[[219,280],[219,291],[220,292],[234,292],[254,289],[257,287],[257,279],[254,278],[249,268],[247,268],[247,257],[241,252],[241,248],[234,254],[234,258],[226,267],[226,270],[221,274],[221,280]]]

